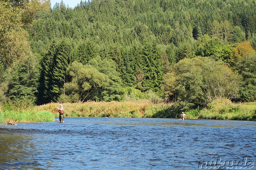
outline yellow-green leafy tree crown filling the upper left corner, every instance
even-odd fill
[[[0,1],[0,63],[10,67],[16,60],[25,59],[30,53],[29,27],[35,14],[49,9],[49,0]]]

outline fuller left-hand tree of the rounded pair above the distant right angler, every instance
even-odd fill
[[[202,105],[206,102],[204,94],[204,76],[216,64],[208,58],[195,57],[183,59],[173,66],[178,99]],[[174,92],[175,92],[174,91]],[[173,92],[173,93],[174,93]]]

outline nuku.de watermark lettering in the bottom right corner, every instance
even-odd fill
[[[247,157],[243,157],[243,160],[238,163],[233,161],[223,161],[221,160],[221,157],[218,157],[217,161],[199,161],[198,164],[199,169],[251,169],[253,166],[253,162],[251,160],[247,160]]]

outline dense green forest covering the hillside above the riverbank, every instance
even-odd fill
[[[49,1],[1,0],[0,10],[2,104],[256,100],[255,0],[92,0],[52,9]]]

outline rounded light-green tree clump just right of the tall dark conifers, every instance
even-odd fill
[[[80,102],[87,100],[121,100],[121,79],[111,60],[95,58],[89,64],[73,62],[67,70],[70,81],[65,84],[70,98],[77,96]]]

